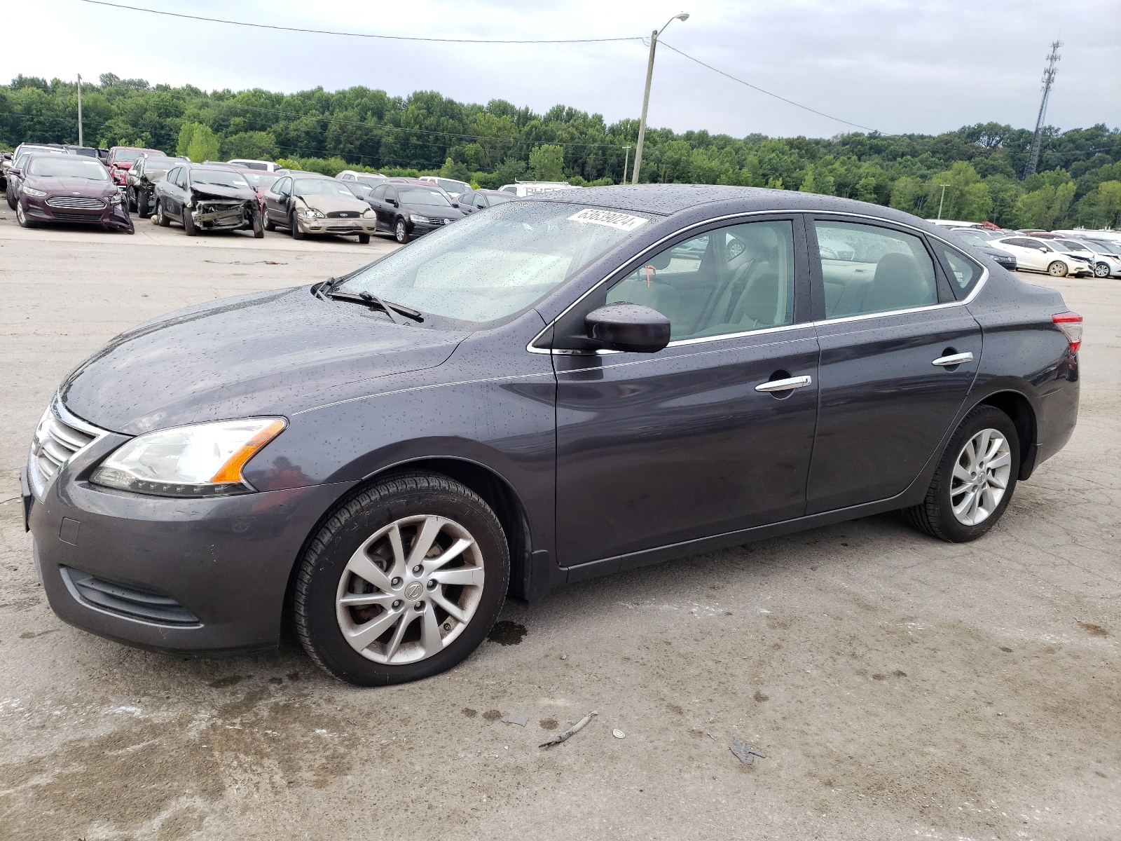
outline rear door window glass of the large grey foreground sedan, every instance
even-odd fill
[[[816,220],[825,317],[888,313],[938,303],[923,240],[890,228]]]

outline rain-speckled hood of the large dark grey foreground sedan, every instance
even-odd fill
[[[467,334],[390,323],[303,286],[210,302],[121,333],[71,373],[66,408],[127,435],[296,412],[434,368]]]

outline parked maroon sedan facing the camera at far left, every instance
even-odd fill
[[[132,233],[117,185],[101,161],[71,155],[31,155],[20,173],[16,219],[24,228],[37,222],[84,222]]]

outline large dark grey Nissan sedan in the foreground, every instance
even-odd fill
[[[25,510],[80,628],[209,655],[290,620],[409,681],[508,592],[890,510],[984,535],[1071,437],[1081,321],[878,205],[553,193],[122,333],[44,413]]]

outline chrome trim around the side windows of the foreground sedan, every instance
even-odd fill
[[[582,351],[582,350],[567,350],[567,349],[553,349],[553,348],[535,348],[534,343],[538,339],[540,339],[543,335],[545,335],[545,333],[547,333],[549,330],[552,330],[556,325],[556,323],[558,321],[560,321],[560,318],[563,318],[565,315],[567,315],[569,309],[572,309],[573,307],[575,307],[584,298],[586,298],[593,292],[595,292],[596,289],[599,289],[605,283],[609,283],[609,281],[615,279],[617,276],[618,276],[618,274],[620,271],[622,271],[623,268],[628,264],[630,264],[632,260],[637,260],[637,259],[641,259],[641,258],[646,257],[654,249],[656,249],[659,246],[664,244],[665,242],[674,239],[675,237],[678,237],[678,235],[680,235],[683,233],[687,233],[687,232],[689,232],[689,231],[692,231],[692,230],[694,230],[696,228],[702,228],[704,225],[712,224],[713,222],[724,222],[726,220],[743,219],[743,218],[747,218],[747,216],[769,216],[769,215],[782,215],[782,214],[788,214],[788,213],[799,213],[799,214],[804,214],[804,215],[822,214],[822,215],[828,215],[828,216],[849,216],[849,218],[852,218],[852,219],[868,219],[868,220],[871,220],[873,222],[886,222],[888,224],[899,225],[900,228],[907,228],[907,229],[909,229],[911,231],[915,231],[916,233],[918,233],[920,235],[929,237],[932,239],[937,240],[938,242],[942,242],[945,246],[949,246],[951,248],[953,248],[955,250],[958,250],[958,251],[961,250],[961,248],[958,246],[954,244],[953,242],[951,242],[949,240],[947,240],[945,237],[939,237],[937,234],[930,233],[929,231],[926,231],[926,230],[924,230],[921,228],[916,228],[915,225],[908,224],[906,222],[897,222],[893,219],[884,219],[883,216],[873,216],[873,215],[868,214],[868,213],[850,213],[850,212],[845,212],[845,211],[814,211],[814,210],[806,210],[806,209],[786,209],[786,210],[745,211],[743,213],[730,213],[730,214],[724,215],[724,216],[713,216],[712,219],[705,219],[705,220],[702,220],[701,222],[694,222],[691,225],[686,225],[685,228],[682,228],[682,229],[679,229],[677,231],[674,231],[673,233],[666,234],[665,237],[663,237],[657,242],[648,246],[647,248],[645,248],[643,250],[639,251],[637,255],[634,255],[633,257],[629,258],[628,260],[624,260],[623,264],[622,264],[622,266],[620,266],[619,268],[617,268],[613,271],[611,271],[609,275],[606,275],[599,283],[594,284],[587,292],[585,292],[583,295],[581,295],[578,298],[576,298],[574,302],[572,302],[568,306],[566,306],[564,309],[562,309],[560,313],[558,313],[557,316],[553,318],[553,321],[550,321],[548,324],[546,324],[536,335],[534,335],[532,339],[529,340],[529,343],[526,345],[526,350],[529,351],[530,353],[545,353],[545,354],[548,354],[548,355],[556,354],[556,355],[566,355],[566,357],[567,355],[571,355],[571,357],[591,357],[591,355],[605,355],[605,354],[610,354],[610,353],[622,353],[622,351],[614,351],[614,350],[586,350],[586,351]],[[821,259],[821,256],[818,256],[818,259]],[[974,260],[974,262],[978,262],[978,261]],[[669,342],[669,344],[667,344],[666,346],[667,348],[676,348],[676,346],[679,346],[679,345],[683,345],[683,344],[700,344],[702,342],[716,342],[716,341],[721,341],[721,340],[724,340],[724,339],[742,339],[743,336],[747,336],[747,335],[759,335],[759,334],[763,334],[763,333],[777,333],[779,331],[794,330],[794,329],[797,329],[797,327],[817,327],[817,326],[823,326],[823,325],[827,325],[827,324],[844,324],[846,322],[865,321],[868,318],[879,318],[879,317],[884,316],[884,315],[907,315],[909,313],[923,313],[923,312],[928,312],[928,311],[932,311],[932,309],[946,309],[948,307],[954,307],[954,306],[965,306],[966,304],[972,303],[976,298],[976,296],[981,293],[981,289],[984,287],[985,283],[989,280],[989,274],[990,272],[989,272],[988,267],[984,266],[981,262],[978,262],[978,265],[981,266],[981,277],[978,278],[978,281],[973,285],[973,288],[970,289],[970,294],[966,295],[961,301],[946,301],[944,303],[927,304],[925,306],[916,306],[916,307],[910,307],[908,309],[888,309],[888,311],[884,311],[882,313],[861,313],[860,315],[845,315],[845,316],[842,316],[840,318],[823,318],[821,321],[798,322],[797,324],[785,324],[785,325],[778,326],[778,327],[765,327],[763,330],[749,330],[749,331],[744,331],[744,332],[741,332],[741,333],[723,333],[721,335],[700,336],[697,339],[678,339],[677,341]]]

